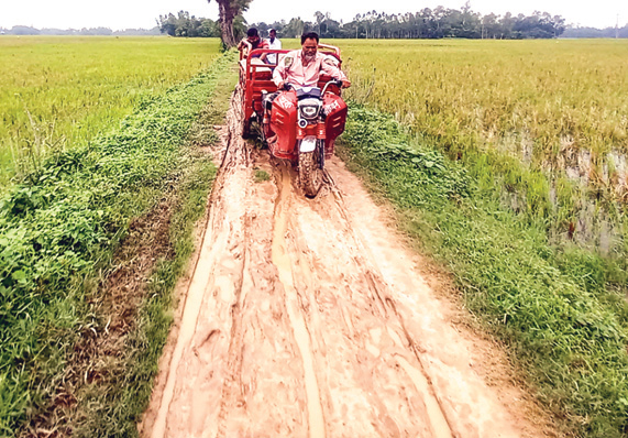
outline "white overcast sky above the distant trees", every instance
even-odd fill
[[[244,14],[250,22],[273,22],[300,17],[306,21],[313,19],[316,11],[330,12],[332,19],[350,21],[357,13],[376,10],[386,13],[417,12],[423,8],[460,9],[464,0],[376,0],[360,1],[295,1],[295,0],[254,0]],[[615,26],[619,14],[619,26],[628,23],[628,0],[471,0],[471,9],[482,14],[495,12],[504,14],[531,14],[538,10],[562,15],[568,23],[583,26]],[[196,17],[216,20],[216,1],[206,0],[0,0],[0,28],[30,25],[34,28],[153,28],[161,14],[189,11]]]

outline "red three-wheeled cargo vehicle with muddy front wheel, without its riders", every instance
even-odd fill
[[[340,67],[337,47],[321,44],[319,51],[333,56]],[[341,98],[340,83],[322,73],[318,87],[283,90],[271,101],[267,97],[277,91],[272,80],[276,64],[265,64],[257,56],[276,54],[278,59],[288,52],[241,51],[242,136],[249,138],[256,128],[273,156],[297,164],[300,185],[307,196],[313,197],[320,188],[324,158],[333,154],[334,141],[344,131],[346,105]],[[311,113],[318,108],[316,118],[306,117],[305,107],[311,107],[307,110]]]

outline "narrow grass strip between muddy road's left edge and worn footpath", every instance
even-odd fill
[[[207,197],[216,167],[198,145],[218,141],[214,124],[224,122],[229,99],[238,80],[236,73],[225,64],[216,76],[210,102],[188,135],[189,166],[184,172],[178,193],[169,202],[174,213],[169,220],[170,250],[156,261],[143,298],[137,307],[135,326],[125,339],[125,352],[115,358],[119,372],[107,382],[86,386],[78,402],[75,436],[136,436],[136,424],[145,410],[153,391],[158,360],[173,321],[173,289],[187,267],[194,252],[194,228],[207,207]],[[196,147],[195,147],[196,146]],[[106,324],[102,318],[102,324]]]

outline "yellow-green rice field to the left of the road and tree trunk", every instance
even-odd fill
[[[42,156],[87,144],[132,109],[189,80],[218,56],[218,39],[0,39],[0,186]]]

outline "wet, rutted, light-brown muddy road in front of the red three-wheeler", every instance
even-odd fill
[[[342,162],[306,199],[238,119],[142,434],[538,436]]]

